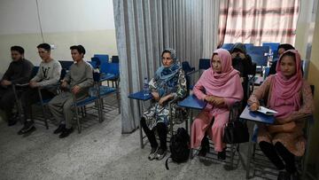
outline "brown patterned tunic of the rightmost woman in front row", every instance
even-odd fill
[[[252,96],[248,99],[248,104],[257,103],[259,105],[259,100],[264,99],[264,102],[267,102],[267,107],[269,106],[269,99],[271,96],[272,89],[272,79],[274,76],[269,76],[268,79],[261,84],[261,87],[253,91]],[[314,108],[313,96],[309,84],[303,80],[301,87],[301,99],[302,106],[299,111],[292,112],[287,119],[292,120],[296,123],[296,128],[293,132],[277,132],[270,133],[268,131],[268,126],[261,125],[259,126],[258,131],[258,143],[261,141],[266,141],[273,145],[276,142],[280,142],[287,148],[291,153],[296,156],[302,156],[305,153],[306,140],[303,137],[303,127],[304,120],[309,114],[312,113]],[[282,124],[278,123],[278,120],[275,121],[275,125]],[[271,125],[270,125],[271,126]]]

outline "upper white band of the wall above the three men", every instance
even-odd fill
[[[36,0],[1,0],[0,35],[40,32]],[[115,29],[112,0],[38,0],[44,33]]]

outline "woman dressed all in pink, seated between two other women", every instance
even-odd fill
[[[211,68],[200,76],[193,92],[197,98],[205,100],[207,105],[192,123],[191,148],[198,148],[201,145],[199,154],[205,156],[209,151],[207,133],[214,142],[218,158],[225,160],[226,145],[222,142],[222,137],[225,124],[229,121],[229,109],[244,97],[239,72],[231,67],[229,51],[222,49],[214,51]]]

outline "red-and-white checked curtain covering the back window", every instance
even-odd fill
[[[220,12],[220,44],[294,44],[300,0],[223,0]]]

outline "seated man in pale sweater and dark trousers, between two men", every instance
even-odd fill
[[[18,134],[25,134],[35,130],[35,122],[31,120],[32,104],[40,100],[37,87],[44,87],[58,82],[61,75],[61,65],[58,60],[51,59],[51,46],[48,43],[41,43],[37,46],[39,56],[43,61],[35,77],[29,82],[30,88],[22,94],[22,106],[24,111],[25,125]],[[43,99],[51,99],[57,94],[56,88],[42,89]]]

